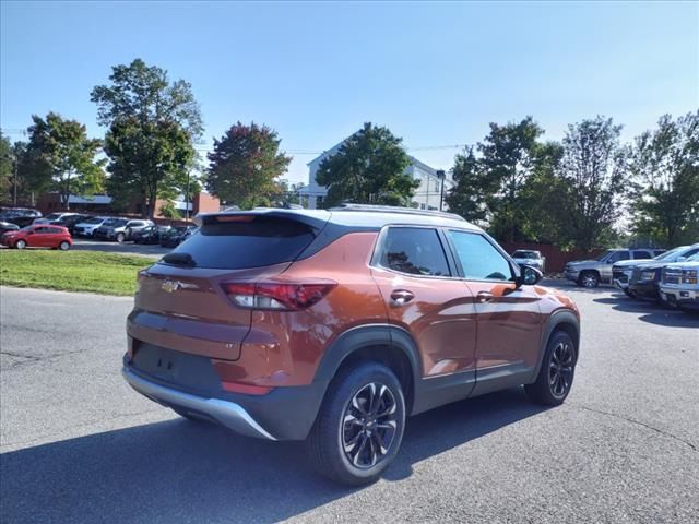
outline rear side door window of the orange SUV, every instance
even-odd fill
[[[445,250],[435,229],[420,227],[389,228],[380,264],[401,273],[425,276],[450,276]]]

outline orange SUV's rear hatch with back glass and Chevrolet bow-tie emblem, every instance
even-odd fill
[[[284,212],[204,215],[200,230],[142,272],[129,335],[139,343],[235,360],[252,312],[222,284],[274,277],[316,238],[325,221]]]

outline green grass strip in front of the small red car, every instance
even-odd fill
[[[0,249],[0,284],[102,295],[133,295],[139,270],[154,260],[94,251]]]

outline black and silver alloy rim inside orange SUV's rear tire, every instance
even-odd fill
[[[342,417],[341,439],[354,466],[367,469],[387,456],[398,429],[396,412],[393,392],[378,382],[366,384],[352,397]]]

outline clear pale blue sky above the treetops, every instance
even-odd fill
[[[699,108],[699,2],[0,2],[0,128],[33,114],[105,130],[90,102],[134,58],[192,84],[211,148],[236,121],[277,131],[286,178],[366,121],[449,169],[532,115],[560,140],[596,115],[624,140]]]

